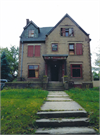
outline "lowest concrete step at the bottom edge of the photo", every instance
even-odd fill
[[[96,134],[94,129],[88,127],[59,127],[59,128],[39,128],[35,134]]]

